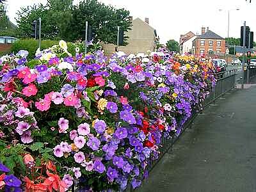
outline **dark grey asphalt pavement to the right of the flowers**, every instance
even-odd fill
[[[247,87],[198,115],[136,191],[256,191],[256,86]]]

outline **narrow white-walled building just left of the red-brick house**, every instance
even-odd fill
[[[195,40],[196,35],[189,31],[185,35],[180,35],[180,53],[192,53],[193,40]]]

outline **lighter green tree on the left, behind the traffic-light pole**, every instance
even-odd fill
[[[48,0],[47,4],[34,4],[21,8],[18,12],[17,24],[19,35],[31,35],[33,20],[42,19],[42,38],[60,39],[66,36],[67,26],[71,20],[73,0]]]

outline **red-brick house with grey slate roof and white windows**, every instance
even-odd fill
[[[216,33],[202,28],[202,35],[198,35],[193,40],[193,54],[225,54],[225,38]]]

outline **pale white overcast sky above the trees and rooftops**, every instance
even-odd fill
[[[75,0],[77,3],[79,0]],[[131,16],[149,18],[149,24],[157,30],[161,43],[175,39],[192,31],[201,33],[202,26],[209,27],[220,36],[226,37],[228,31],[228,11],[230,11],[230,35],[240,37],[240,26],[246,20],[251,31],[256,31],[256,0],[100,0],[116,8],[129,10]],[[248,0],[250,1],[250,0]],[[16,12],[22,6],[45,3],[46,0],[8,0],[8,15],[15,23]],[[239,8],[239,11],[234,9]],[[222,9],[224,11],[220,12]],[[255,35],[256,36],[256,35]]]

